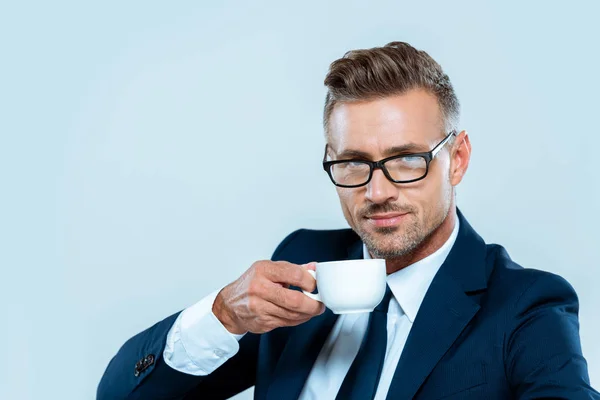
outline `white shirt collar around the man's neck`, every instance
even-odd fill
[[[402,311],[404,311],[411,323],[413,323],[417,316],[417,312],[419,311],[419,307],[421,307],[429,285],[431,285],[431,281],[433,281],[435,274],[437,274],[446,260],[448,253],[450,253],[456,241],[459,225],[458,218],[455,218],[454,229],[442,247],[422,260],[402,268],[400,271],[396,271],[387,277],[387,283],[392,290],[394,298],[398,301]],[[363,258],[371,258],[364,243]]]

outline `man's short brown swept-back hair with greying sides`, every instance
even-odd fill
[[[338,102],[369,100],[425,89],[438,99],[446,131],[457,129],[460,104],[450,78],[429,54],[408,43],[351,50],[329,66],[323,128]]]

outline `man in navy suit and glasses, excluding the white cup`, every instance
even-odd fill
[[[323,166],[352,229],[293,232],[271,261],[134,336],[98,398],[254,385],[273,400],[600,399],[573,288],[486,245],[456,208],[471,144],[441,67],[393,42],[346,53],[325,85]],[[315,289],[314,261],[359,258],[386,260],[383,308],[337,316],[298,290]]]

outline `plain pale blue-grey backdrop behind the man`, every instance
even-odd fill
[[[450,75],[459,206],[573,284],[600,385],[598,2],[215,3],[0,6],[0,398],[92,399],[127,338],[291,230],[346,226],[323,77],[393,40]]]

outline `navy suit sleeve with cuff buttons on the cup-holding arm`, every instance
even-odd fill
[[[279,244],[273,260],[280,259],[280,253],[297,234],[298,231],[291,233]],[[168,333],[179,314],[125,342],[100,380],[97,400],[224,399],[254,385],[260,335],[252,333],[239,341],[236,355],[208,375],[197,376],[171,368],[163,353]],[[136,372],[140,369],[141,372]]]

